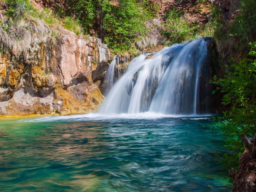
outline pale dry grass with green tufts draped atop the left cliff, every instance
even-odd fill
[[[3,14],[2,14],[3,13]],[[76,34],[83,33],[80,24],[68,18],[63,22],[49,9],[31,8],[20,19],[12,20],[0,13],[0,46],[15,56],[33,52],[39,44],[50,41],[56,44],[60,28],[67,28]]]

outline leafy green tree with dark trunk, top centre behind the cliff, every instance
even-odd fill
[[[69,6],[81,21],[84,31],[98,36],[114,50],[129,50],[135,38],[145,33],[140,7],[148,1],[77,0]]]

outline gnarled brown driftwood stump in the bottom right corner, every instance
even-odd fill
[[[234,179],[232,192],[256,192],[256,137],[247,138],[241,134],[245,151],[239,158],[239,168],[229,170],[229,176]]]

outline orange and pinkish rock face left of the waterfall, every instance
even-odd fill
[[[92,71],[112,51],[94,37],[60,29],[56,42],[0,57],[0,115],[74,114],[95,110],[104,96]]]

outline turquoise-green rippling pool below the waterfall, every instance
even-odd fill
[[[5,119],[0,191],[228,191],[222,146],[210,117]]]

